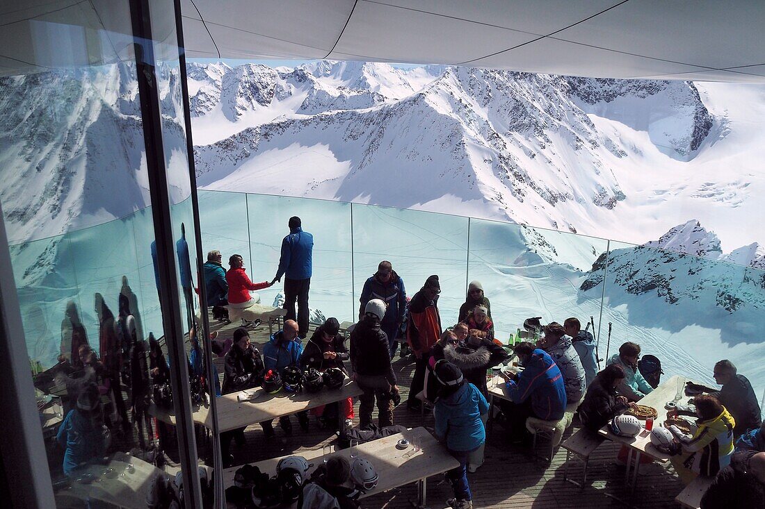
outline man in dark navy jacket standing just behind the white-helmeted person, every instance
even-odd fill
[[[390,357],[396,353],[399,342],[399,327],[406,311],[406,290],[404,280],[393,270],[392,264],[383,260],[377,265],[377,272],[364,282],[359,299],[359,319],[364,316],[366,303],[372,299],[382,300],[386,304],[385,316],[380,323],[380,329],[388,336]]]

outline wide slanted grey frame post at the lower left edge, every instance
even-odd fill
[[[40,416],[34,404],[24,326],[0,208],[0,487],[9,507],[56,507]]]

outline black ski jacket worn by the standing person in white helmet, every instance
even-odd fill
[[[396,373],[390,363],[388,336],[376,319],[365,316],[350,333],[350,365],[362,376],[384,376],[396,385]]]

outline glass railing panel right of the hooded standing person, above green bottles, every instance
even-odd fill
[[[469,280],[490,300],[495,336],[506,342],[535,316],[575,317],[593,332],[592,317],[597,336],[606,247],[602,238],[470,219]]]

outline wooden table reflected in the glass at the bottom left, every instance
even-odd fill
[[[111,468],[109,473],[107,468]],[[93,476],[90,483],[77,480],[83,479],[85,474]],[[164,475],[164,472],[141,459],[128,459],[118,454],[106,465],[87,466],[69,487],[57,491],[57,506],[69,507],[73,501],[97,500],[109,504],[109,507],[145,509],[151,480],[158,474]],[[81,507],[81,504],[73,507]]]

